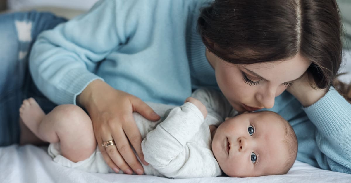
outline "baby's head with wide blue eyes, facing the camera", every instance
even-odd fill
[[[230,177],[286,174],[297,155],[296,135],[271,111],[240,114],[214,132],[212,151]]]

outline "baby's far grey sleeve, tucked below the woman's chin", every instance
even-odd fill
[[[194,91],[191,94],[191,97],[200,100],[201,103],[206,106],[208,114],[205,122],[208,125],[219,126],[226,117],[237,114],[237,111],[233,110],[233,107],[230,105],[229,101],[220,91],[209,88],[201,88]]]

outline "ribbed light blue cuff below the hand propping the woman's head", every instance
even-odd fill
[[[340,129],[351,126],[351,104],[334,87],[304,111],[318,130],[327,135],[334,135]]]

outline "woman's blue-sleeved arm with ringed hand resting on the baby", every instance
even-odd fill
[[[95,138],[106,163],[115,171],[120,168],[138,174],[143,173],[143,167],[129,142],[141,161],[144,156],[132,112],[150,120],[159,117],[143,101],[113,89],[94,73],[112,51],[128,42],[137,27],[151,29],[150,8],[139,11],[145,6],[143,3],[157,1],[99,1],[87,14],[39,35],[29,61],[35,84],[49,99],[57,104],[75,104],[79,96],[79,104],[92,118]],[[145,37],[139,43],[147,41]],[[113,139],[116,146],[106,151],[101,143]]]

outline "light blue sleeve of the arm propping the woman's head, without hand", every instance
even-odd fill
[[[331,87],[304,111],[317,128],[317,146],[324,155],[320,167],[351,174],[351,104]]]

